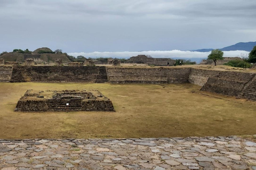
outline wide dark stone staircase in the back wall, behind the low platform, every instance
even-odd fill
[[[23,74],[22,74],[23,71]],[[108,81],[104,66],[30,66],[14,68],[12,82],[91,82]]]

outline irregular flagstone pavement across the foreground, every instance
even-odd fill
[[[1,140],[0,169],[256,169],[239,137]]]

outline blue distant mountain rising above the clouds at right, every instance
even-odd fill
[[[248,43],[237,43],[235,45],[231,45],[228,47],[220,48],[222,51],[235,51],[235,50],[244,50],[246,52],[251,52],[253,47],[256,46],[256,41],[255,42],[248,42]],[[213,49],[197,49],[193,50],[193,52],[211,52]]]

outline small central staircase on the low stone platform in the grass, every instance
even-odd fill
[[[82,99],[49,99],[47,105],[49,111],[82,111]]]

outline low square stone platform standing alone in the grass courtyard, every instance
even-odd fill
[[[114,111],[114,106],[98,90],[27,90],[15,111]]]

